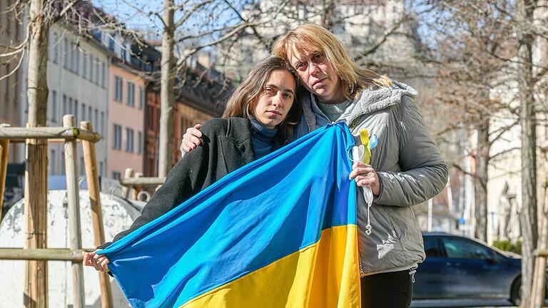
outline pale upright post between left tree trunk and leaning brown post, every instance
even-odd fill
[[[73,115],[63,117],[63,126],[66,128],[76,125]],[[68,202],[68,239],[71,250],[80,250],[82,247],[80,227],[80,205],[78,193],[78,152],[76,140],[65,142],[65,170],[66,170],[66,197]],[[72,263],[72,304],[74,308],[86,307],[83,294],[83,265],[81,262]]]

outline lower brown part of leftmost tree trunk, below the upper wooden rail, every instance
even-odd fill
[[[26,249],[47,247],[48,141],[26,140],[25,244]],[[48,307],[47,261],[24,262],[24,307]]]

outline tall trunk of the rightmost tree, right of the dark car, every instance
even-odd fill
[[[532,43],[534,36],[527,28],[533,20],[534,1],[517,1],[519,29],[519,84],[520,126],[522,129],[522,210],[519,221],[522,228],[522,307],[529,307],[531,297],[534,250],[537,248],[537,134],[534,111],[534,79]]]

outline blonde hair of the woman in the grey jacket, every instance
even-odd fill
[[[320,48],[325,53],[340,78],[345,99],[352,99],[364,88],[374,86],[389,87],[393,82],[387,76],[381,76],[374,71],[361,68],[355,63],[342,43],[323,26],[303,24],[288,31],[274,42],[272,54],[289,61],[290,48],[300,53]]]

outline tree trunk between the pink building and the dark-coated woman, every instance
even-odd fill
[[[163,1],[158,177],[168,175],[173,157],[173,0]]]

